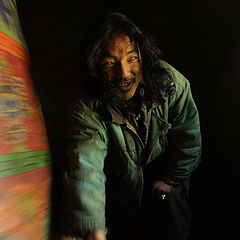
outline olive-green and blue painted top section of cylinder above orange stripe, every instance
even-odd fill
[[[15,0],[0,0],[0,31],[12,37],[27,50]]]

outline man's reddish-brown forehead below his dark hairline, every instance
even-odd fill
[[[114,31],[106,40],[103,51],[106,53],[121,53],[128,51],[137,51],[134,40],[131,40],[120,30]]]

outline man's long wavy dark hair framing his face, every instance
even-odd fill
[[[110,12],[97,18],[93,28],[88,34],[87,48],[85,52],[85,69],[87,74],[87,86],[95,90],[96,94],[103,101],[114,101],[116,93],[112,93],[111,85],[105,80],[99,66],[98,59],[101,48],[110,34],[115,30],[124,32],[130,40],[133,40],[139,47],[142,57],[142,76],[139,84],[144,89],[143,99],[147,102],[162,102],[163,96],[171,95],[175,85],[169,74],[161,67],[159,59],[162,56],[160,49],[153,38],[144,33],[127,16]]]

